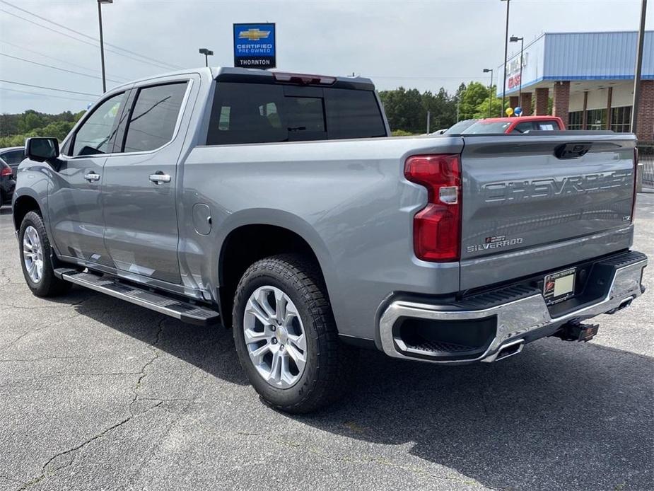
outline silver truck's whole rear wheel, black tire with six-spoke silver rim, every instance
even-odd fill
[[[317,266],[276,255],[250,266],[236,289],[233,335],[241,366],[269,405],[302,413],[349,388],[356,351],[341,344]]]

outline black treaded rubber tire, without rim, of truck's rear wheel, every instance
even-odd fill
[[[243,317],[250,295],[272,286],[293,301],[302,320],[307,361],[290,388],[271,386],[252,364],[243,335]],[[257,393],[271,407],[295,414],[312,412],[338,400],[351,386],[356,349],[341,343],[317,265],[298,255],[275,255],[251,265],[236,289],[233,336],[241,366]]]

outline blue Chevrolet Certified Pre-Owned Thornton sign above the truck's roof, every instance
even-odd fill
[[[275,25],[234,24],[234,66],[274,68]]]

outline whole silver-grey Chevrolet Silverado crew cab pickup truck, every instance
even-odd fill
[[[270,405],[308,412],[357,347],[493,362],[644,291],[632,134],[391,138],[362,78],[197,69],[28,139],[13,220],[37,296],[78,284],[233,330]]]

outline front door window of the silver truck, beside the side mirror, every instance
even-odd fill
[[[110,151],[118,127],[117,117],[122,112],[124,101],[125,93],[120,93],[93,110],[75,134],[73,156],[106,154]]]

